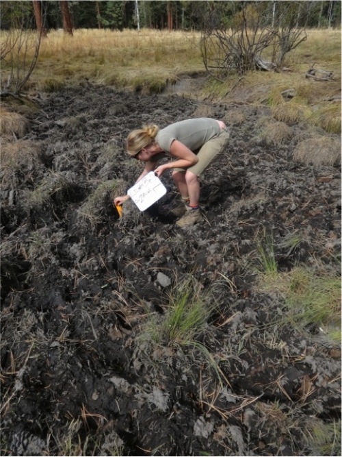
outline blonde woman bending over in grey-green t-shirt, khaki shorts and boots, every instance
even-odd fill
[[[202,220],[200,213],[200,175],[228,145],[228,128],[222,121],[210,118],[187,119],[159,129],[157,125],[145,125],[133,130],[127,137],[129,156],[145,162],[140,181],[154,171],[161,176],[173,169],[172,178],[181,194],[182,203],[173,213],[183,216],[176,222],[187,227]],[[166,164],[158,165],[162,158]],[[114,203],[122,205],[128,195],[116,197]]]

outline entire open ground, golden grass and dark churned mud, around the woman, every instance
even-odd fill
[[[4,456],[341,455],[341,32],[224,81],[200,39],[51,31],[1,99]],[[128,132],[198,116],[231,131],[204,221],[170,175],[119,217]]]

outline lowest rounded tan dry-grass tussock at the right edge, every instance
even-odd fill
[[[295,147],[293,160],[315,166],[341,164],[341,140],[318,135],[307,138]]]

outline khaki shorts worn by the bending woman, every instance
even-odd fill
[[[174,168],[174,171],[191,171],[194,175],[200,176],[205,169],[208,168],[209,164],[213,162],[215,157],[228,145],[229,142],[229,131],[228,127],[224,127],[221,130],[219,136],[215,136],[215,138],[211,138],[211,140],[207,141],[196,156],[198,157],[198,162],[193,166],[189,166],[189,168]]]

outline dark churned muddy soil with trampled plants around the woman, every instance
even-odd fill
[[[260,135],[267,107],[88,84],[40,108],[1,171],[2,454],[330,455],[311,438],[340,417],[339,347],[280,324],[285,301],[256,273],[268,234],[279,271],[339,274],[340,170],[293,162],[304,125],[273,145]],[[174,225],[167,173],[161,200],[143,213],[128,202],[119,219],[113,197],[142,168],[124,153],[128,132],[201,110],[231,127],[201,179],[205,220]],[[144,325],[189,277],[215,303],[198,345],[153,343]]]

